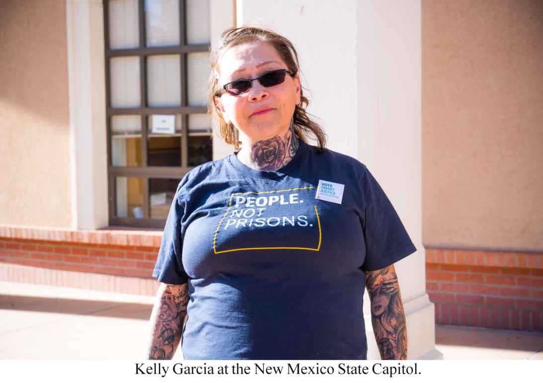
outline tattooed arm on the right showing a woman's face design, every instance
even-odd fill
[[[371,301],[371,324],[383,360],[407,359],[406,317],[394,265],[365,271]]]

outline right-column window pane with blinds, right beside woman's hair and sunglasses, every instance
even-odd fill
[[[187,54],[187,92],[189,106],[207,105],[206,84],[210,74],[208,52]]]

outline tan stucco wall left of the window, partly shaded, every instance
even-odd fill
[[[69,227],[64,1],[0,1],[0,223]]]

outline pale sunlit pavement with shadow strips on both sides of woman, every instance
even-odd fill
[[[146,359],[153,301],[0,282],[0,359]],[[543,360],[543,333],[436,324],[435,348],[444,359]]]

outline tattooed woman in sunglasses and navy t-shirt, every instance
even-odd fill
[[[176,190],[153,272],[149,359],[171,359],[181,335],[185,359],[366,359],[365,280],[397,280],[411,239],[368,169],[325,149],[291,42],[231,28],[211,66],[211,110],[236,151]],[[377,341],[384,359],[406,359],[394,294],[393,331]]]

